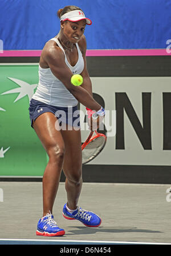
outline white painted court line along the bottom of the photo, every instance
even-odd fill
[[[1,239],[1,241],[26,241],[26,242],[71,242],[71,243],[111,243],[111,244],[131,244],[131,245],[171,245],[171,243],[150,243],[150,242],[127,242],[127,241],[88,241],[88,240],[57,240],[57,239]]]

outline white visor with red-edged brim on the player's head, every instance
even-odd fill
[[[74,10],[74,11],[68,11],[68,13],[63,14],[60,17],[60,21],[81,21],[82,19],[86,19],[87,25],[91,25],[92,21],[84,15],[82,10]]]

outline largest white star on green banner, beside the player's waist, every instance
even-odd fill
[[[19,99],[28,96],[29,101],[31,101],[32,95],[34,94],[34,89],[37,86],[37,83],[34,85],[30,85],[30,83],[27,83],[25,81],[19,80],[17,78],[11,78],[8,77],[11,81],[17,83],[20,87],[5,91],[5,93],[2,93],[1,95],[10,94],[10,93],[19,93],[18,97],[15,99],[14,102],[18,101]]]

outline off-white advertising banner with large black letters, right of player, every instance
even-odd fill
[[[109,112],[104,121],[107,145],[91,164],[171,165],[171,78],[91,80],[93,92],[103,98]]]

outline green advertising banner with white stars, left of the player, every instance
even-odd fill
[[[42,175],[46,153],[30,126],[38,65],[0,66],[0,175]]]

